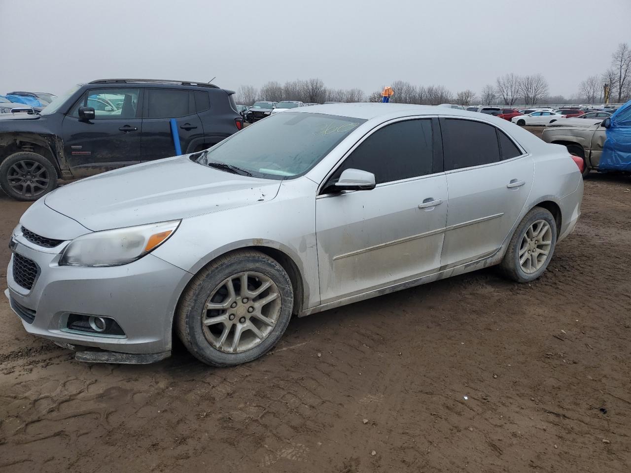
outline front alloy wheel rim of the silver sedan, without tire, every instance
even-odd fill
[[[242,353],[256,347],[278,322],[278,286],[259,272],[240,272],[213,289],[203,308],[204,337],[223,353]]]

